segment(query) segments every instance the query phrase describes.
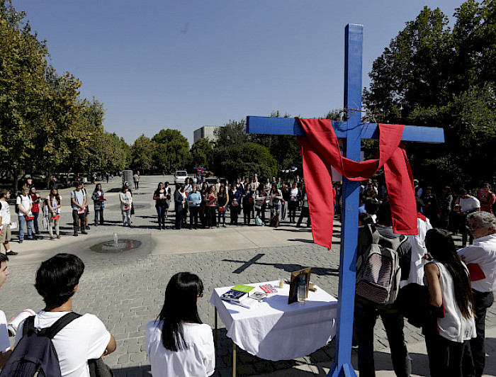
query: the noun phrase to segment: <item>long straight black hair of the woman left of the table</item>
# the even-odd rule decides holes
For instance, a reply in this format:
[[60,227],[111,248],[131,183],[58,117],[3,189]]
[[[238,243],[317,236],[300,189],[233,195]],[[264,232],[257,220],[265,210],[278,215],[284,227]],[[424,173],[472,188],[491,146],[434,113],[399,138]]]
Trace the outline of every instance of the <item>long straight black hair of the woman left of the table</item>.
[[159,314],[162,322],[162,344],[169,351],[188,348],[184,342],[183,323],[202,323],[196,300],[203,293],[203,283],[195,274],[179,272],[165,289],[164,306]]

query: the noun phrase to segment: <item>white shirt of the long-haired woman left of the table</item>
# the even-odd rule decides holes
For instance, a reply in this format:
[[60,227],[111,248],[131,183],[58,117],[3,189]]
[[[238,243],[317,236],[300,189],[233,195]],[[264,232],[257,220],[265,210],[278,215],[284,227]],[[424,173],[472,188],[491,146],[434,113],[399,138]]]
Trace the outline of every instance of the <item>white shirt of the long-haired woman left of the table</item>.
[[206,377],[215,371],[215,348],[209,325],[185,323],[184,341],[187,349],[169,351],[162,345],[162,325],[147,324],[147,354],[154,377]]

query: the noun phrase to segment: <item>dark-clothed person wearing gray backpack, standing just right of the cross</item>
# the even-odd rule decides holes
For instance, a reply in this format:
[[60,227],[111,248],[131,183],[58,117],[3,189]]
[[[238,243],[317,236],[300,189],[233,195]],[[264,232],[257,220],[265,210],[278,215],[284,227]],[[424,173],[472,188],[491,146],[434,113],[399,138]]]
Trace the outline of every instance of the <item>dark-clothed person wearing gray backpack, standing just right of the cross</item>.
[[[359,276],[361,275],[360,263],[363,256],[369,252],[373,244],[373,238],[380,237],[381,240],[391,240],[391,244],[395,244],[397,249],[388,249],[391,254],[398,254],[398,268],[395,271],[395,276],[400,274],[400,280],[406,280],[410,274],[410,255],[412,246],[410,240],[405,236],[397,235],[391,227],[391,208],[388,200],[385,200],[378,209],[377,225],[368,225],[359,229],[359,245],[357,251],[357,285],[355,296],[355,327],[356,337],[359,344],[359,372],[361,377],[375,376],[375,368],[373,361],[373,328],[376,325],[377,316],[381,315],[388,342],[391,349],[391,359],[393,359],[393,368],[396,376],[409,377],[412,371],[410,356],[408,356],[407,346],[405,344],[405,334],[403,332],[403,316],[400,310],[394,304],[378,304],[376,296],[373,295],[375,290],[372,288],[367,290],[359,284]],[[371,234],[371,229],[374,230]],[[396,240],[395,239],[398,239]],[[387,242],[383,242],[387,243]],[[381,247],[382,248],[382,247]],[[382,259],[384,260],[384,259]],[[365,263],[363,263],[365,264]],[[381,272],[383,267],[379,266]],[[393,284],[398,284],[399,281],[391,281]],[[390,288],[398,288],[398,286]],[[393,289],[394,291],[394,289]],[[392,292],[390,292],[392,293]],[[398,293],[396,291],[396,293]],[[367,297],[367,294],[369,296]],[[393,299],[393,297],[390,297]]]

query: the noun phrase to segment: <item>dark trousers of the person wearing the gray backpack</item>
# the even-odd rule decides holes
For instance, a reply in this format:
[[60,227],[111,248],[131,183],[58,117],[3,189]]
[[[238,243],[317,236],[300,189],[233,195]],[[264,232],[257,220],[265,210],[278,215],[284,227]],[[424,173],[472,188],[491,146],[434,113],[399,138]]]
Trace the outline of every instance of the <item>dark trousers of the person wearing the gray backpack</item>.
[[356,337],[359,342],[360,377],[376,376],[373,361],[373,327],[376,325],[377,315],[381,315],[388,336],[396,376],[409,377],[412,373],[412,361],[408,356],[407,345],[405,344],[403,316],[400,311],[393,305],[376,305],[356,297],[355,325]]

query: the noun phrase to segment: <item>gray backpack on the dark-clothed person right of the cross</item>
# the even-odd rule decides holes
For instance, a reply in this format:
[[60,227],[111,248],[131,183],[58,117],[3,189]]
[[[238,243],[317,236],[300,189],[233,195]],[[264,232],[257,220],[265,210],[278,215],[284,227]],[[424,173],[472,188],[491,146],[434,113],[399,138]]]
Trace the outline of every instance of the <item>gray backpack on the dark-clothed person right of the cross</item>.
[[358,296],[373,303],[390,305],[400,290],[400,256],[398,248],[407,241],[405,235],[383,237],[374,225],[368,225],[372,243],[356,260],[356,288]]

